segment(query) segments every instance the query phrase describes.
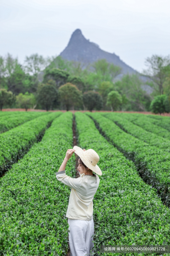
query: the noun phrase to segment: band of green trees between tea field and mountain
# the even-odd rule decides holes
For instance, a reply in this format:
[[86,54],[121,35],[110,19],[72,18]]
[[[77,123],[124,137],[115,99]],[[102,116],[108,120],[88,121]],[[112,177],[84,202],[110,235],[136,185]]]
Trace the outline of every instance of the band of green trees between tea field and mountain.
[[139,75],[98,60],[83,66],[60,56],[26,56],[21,65],[10,54],[0,57],[0,108],[170,111],[170,58],[152,55],[143,76],[153,92],[143,90]]

